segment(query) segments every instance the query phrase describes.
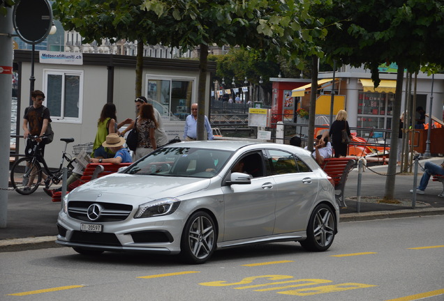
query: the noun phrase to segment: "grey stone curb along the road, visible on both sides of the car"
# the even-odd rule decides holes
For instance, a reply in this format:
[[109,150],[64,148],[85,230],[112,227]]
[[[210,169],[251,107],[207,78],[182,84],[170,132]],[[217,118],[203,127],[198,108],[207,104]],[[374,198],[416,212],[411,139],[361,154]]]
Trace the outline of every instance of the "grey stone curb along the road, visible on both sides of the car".
[[[344,213],[339,215],[339,222],[362,222],[375,219],[422,217],[427,215],[444,215],[444,208],[417,208],[394,211],[373,211],[366,213]],[[55,243],[56,239],[57,236],[40,236],[36,238],[0,240],[0,253],[63,247]]]

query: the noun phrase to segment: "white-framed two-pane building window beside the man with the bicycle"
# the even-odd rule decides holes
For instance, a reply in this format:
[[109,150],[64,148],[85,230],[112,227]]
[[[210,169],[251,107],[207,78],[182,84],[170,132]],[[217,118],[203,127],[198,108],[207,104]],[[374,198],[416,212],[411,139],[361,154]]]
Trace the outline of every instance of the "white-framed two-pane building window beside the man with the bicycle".
[[46,107],[51,118],[81,122],[83,71],[44,70]]

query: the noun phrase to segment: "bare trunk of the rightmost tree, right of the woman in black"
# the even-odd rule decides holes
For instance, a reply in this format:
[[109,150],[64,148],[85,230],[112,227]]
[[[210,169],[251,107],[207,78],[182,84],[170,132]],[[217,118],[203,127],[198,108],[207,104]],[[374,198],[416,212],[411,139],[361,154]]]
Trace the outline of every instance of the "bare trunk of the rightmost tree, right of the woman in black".
[[390,137],[390,157],[387,169],[387,180],[385,180],[385,200],[394,199],[394,182],[397,171],[397,151],[398,151],[398,132],[399,132],[399,118],[401,114],[401,100],[402,100],[402,84],[404,82],[404,65],[398,63],[397,73],[397,88],[394,95],[394,104],[392,112],[392,136]]

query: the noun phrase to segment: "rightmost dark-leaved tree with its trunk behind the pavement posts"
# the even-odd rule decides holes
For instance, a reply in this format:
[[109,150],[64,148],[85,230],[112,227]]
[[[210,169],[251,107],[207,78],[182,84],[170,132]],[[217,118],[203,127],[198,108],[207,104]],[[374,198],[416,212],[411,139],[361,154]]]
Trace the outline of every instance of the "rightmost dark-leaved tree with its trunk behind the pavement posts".
[[[410,72],[424,65],[444,65],[444,6],[441,0],[334,0],[313,7],[327,23],[341,26],[329,29],[320,43],[330,60],[354,66],[366,65],[375,87],[380,79],[380,63],[397,62],[397,91],[393,116],[401,111],[404,68]],[[392,132],[399,123],[392,118]],[[397,139],[390,152],[397,153]],[[384,199],[394,198],[396,159],[390,157]]]

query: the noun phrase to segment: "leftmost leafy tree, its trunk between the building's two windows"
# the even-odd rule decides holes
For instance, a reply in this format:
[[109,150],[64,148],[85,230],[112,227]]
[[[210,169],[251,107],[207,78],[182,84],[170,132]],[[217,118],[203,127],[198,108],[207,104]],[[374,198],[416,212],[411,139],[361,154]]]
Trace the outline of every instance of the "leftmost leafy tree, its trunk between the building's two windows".
[[65,30],[75,30],[84,43],[110,38],[117,40],[137,40],[138,53],[135,69],[135,97],[142,95],[143,45],[156,45],[163,27],[152,20],[157,16],[142,10],[142,0],[56,0],[52,6],[56,17]]

